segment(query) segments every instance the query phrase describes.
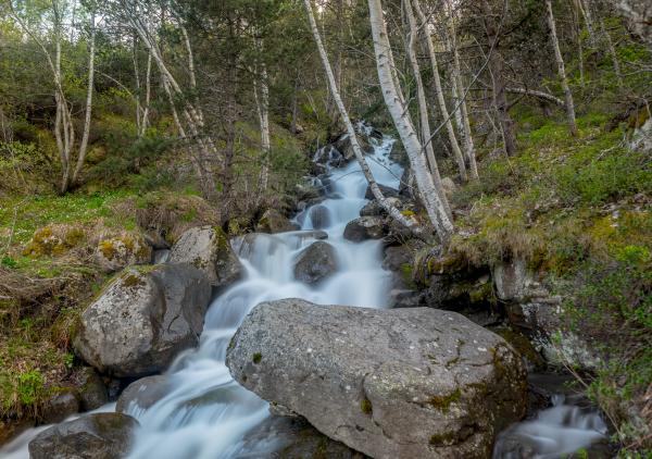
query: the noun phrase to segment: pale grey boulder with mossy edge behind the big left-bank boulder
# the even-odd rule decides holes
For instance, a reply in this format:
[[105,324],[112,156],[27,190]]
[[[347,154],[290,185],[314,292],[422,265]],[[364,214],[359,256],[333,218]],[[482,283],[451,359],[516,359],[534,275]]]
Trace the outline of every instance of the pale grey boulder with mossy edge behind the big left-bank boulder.
[[172,247],[167,262],[192,264],[218,288],[238,281],[243,272],[227,235],[217,226],[200,226],[185,232]]

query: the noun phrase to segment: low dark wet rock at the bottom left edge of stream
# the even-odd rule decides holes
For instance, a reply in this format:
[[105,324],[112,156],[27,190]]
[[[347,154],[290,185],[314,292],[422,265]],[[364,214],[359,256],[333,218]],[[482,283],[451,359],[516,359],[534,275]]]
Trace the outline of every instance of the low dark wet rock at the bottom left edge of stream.
[[30,459],[122,459],[138,426],[130,415],[87,414],[53,425],[29,442]]

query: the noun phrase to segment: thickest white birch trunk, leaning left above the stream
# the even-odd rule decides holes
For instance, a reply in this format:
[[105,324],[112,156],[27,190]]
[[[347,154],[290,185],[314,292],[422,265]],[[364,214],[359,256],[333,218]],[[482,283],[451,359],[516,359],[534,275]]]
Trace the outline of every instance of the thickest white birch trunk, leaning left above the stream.
[[[305,0],[308,1],[308,0]],[[405,152],[410,159],[412,171],[416,179],[422,200],[430,218],[430,222],[437,231],[441,243],[448,245],[453,233],[453,223],[446,213],[442,199],[435,187],[432,176],[428,173],[426,160],[423,154],[422,145],[416,136],[414,125],[410,119],[409,111],[403,103],[400,87],[394,84],[392,75],[392,52],[387,35],[387,25],[383,14],[380,0],[369,0],[369,21],[372,23],[372,35],[374,38],[374,50],[376,54],[376,67],[385,103],[391,114],[394,126],[399,132]]]

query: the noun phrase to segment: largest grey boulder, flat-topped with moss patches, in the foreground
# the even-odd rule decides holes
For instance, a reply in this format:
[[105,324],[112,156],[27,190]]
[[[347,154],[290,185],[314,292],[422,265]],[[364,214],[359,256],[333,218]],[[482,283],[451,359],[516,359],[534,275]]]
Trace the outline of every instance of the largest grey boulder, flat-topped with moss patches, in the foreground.
[[526,408],[510,345],[428,308],[263,302],[226,363],[244,387],[374,458],[486,458]]

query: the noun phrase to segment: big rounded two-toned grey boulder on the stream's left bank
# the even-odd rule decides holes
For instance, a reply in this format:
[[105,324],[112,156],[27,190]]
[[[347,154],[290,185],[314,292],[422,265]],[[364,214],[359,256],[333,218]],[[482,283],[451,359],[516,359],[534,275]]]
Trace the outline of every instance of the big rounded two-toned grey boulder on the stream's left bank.
[[209,281],[189,264],[127,269],[82,314],[75,350],[112,376],[160,372],[197,345],[210,299]]

